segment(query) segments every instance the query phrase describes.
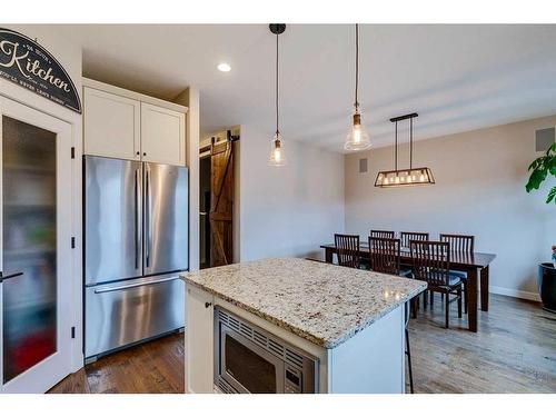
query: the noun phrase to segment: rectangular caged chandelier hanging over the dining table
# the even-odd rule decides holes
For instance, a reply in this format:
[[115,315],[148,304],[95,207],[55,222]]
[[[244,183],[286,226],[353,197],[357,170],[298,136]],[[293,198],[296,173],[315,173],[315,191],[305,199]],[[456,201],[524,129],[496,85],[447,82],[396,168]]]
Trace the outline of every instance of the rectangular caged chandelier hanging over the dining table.
[[[400,187],[400,186],[419,186],[435,183],[435,177],[430,168],[421,167],[414,168],[414,118],[417,113],[404,115],[391,118],[395,123],[395,142],[394,142],[394,170],[379,171],[375,180],[375,187]],[[409,119],[409,168],[398,169],[398,121]]]

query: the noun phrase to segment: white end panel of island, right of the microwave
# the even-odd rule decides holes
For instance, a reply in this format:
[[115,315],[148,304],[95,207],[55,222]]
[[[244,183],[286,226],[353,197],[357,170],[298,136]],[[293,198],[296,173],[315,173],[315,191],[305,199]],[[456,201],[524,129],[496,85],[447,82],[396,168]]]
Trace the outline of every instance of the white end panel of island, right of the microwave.
[[328,350],[330,394],[405,393],[404,305]]

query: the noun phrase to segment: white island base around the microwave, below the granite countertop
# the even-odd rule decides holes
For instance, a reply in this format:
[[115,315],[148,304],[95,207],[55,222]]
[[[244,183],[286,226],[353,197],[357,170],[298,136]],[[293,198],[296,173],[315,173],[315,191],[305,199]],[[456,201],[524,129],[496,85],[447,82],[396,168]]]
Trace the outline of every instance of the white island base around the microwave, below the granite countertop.
[[186,393],[219,393],[214,371],[216,306],[318,358],[318,393],[405,393],[404,304],[328,349],[190,284],[186,299]]

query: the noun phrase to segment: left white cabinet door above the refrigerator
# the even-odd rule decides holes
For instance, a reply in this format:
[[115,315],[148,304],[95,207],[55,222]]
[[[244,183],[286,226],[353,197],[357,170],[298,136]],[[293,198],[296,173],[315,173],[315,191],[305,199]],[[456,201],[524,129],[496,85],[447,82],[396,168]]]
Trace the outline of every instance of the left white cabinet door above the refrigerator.
[[139,101],[85,89],[85,153],[140,160]]

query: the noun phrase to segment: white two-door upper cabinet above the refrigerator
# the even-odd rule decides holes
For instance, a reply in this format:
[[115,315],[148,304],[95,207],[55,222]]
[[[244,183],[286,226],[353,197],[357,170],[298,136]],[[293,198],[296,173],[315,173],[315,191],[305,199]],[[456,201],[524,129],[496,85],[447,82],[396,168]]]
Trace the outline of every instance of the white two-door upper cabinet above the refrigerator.
[[186,165],[187,108],[83,79],[85,153]]

